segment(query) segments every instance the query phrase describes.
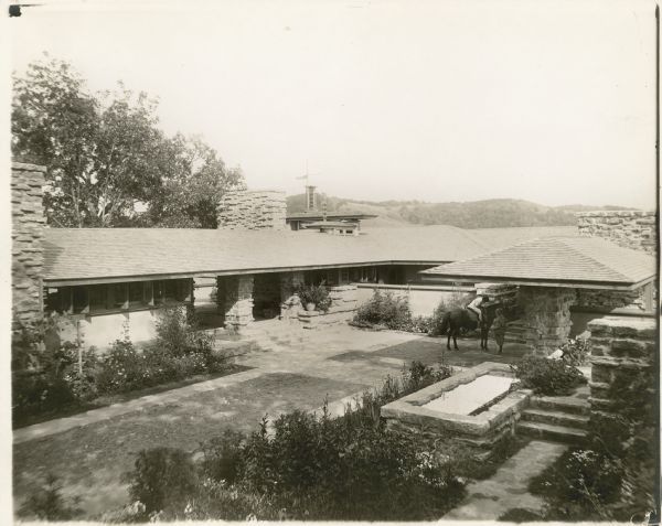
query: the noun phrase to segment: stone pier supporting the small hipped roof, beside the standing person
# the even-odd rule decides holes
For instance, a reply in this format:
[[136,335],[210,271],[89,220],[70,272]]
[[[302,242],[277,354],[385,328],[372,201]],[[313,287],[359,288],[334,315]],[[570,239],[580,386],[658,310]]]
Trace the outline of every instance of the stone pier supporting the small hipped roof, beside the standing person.
[[524,339],[535,354],[547,355],[566,342],[573,322],[570,305],[575,289],[555,287],[520,287]]

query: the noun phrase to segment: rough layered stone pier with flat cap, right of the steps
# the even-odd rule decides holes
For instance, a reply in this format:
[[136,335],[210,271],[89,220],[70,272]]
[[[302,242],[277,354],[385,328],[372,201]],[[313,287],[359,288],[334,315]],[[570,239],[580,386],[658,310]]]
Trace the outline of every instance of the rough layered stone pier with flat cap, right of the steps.
[[590,322],[588,329],[591,418],[609,418],[616,405],[611,393],[619,390],[610,389],[615,384],[632,385],[637,377],[655,374],[655,321],[610,316]]

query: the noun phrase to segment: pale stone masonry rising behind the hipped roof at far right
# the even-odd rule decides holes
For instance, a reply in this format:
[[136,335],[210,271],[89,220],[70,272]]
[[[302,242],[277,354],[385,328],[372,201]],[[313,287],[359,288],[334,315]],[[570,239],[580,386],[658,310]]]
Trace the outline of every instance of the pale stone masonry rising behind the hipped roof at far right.
[[604,237],[626,248],[655,254],[654,212],[600,211],[576,214],[579,235]]

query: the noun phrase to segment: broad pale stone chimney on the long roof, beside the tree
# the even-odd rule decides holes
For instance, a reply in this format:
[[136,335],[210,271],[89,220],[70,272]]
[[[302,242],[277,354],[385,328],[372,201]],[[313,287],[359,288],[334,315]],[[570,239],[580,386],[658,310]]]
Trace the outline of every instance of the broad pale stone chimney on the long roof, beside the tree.
[[227,192],[218,205],[218,228],[284,230],[286,208],[285,192]]

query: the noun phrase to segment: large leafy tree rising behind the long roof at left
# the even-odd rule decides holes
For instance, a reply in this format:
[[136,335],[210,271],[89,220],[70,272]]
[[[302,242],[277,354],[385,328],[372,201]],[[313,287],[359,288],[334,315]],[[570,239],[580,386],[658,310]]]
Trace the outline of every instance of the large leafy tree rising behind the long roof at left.
[[46,56],[14,79],[12,151],[44,164],[53,226],[216,226],[223,192],[243,186],[199,138],[167,137],[157,101],[120,84],[90,94],[70,64]]

